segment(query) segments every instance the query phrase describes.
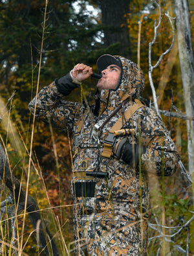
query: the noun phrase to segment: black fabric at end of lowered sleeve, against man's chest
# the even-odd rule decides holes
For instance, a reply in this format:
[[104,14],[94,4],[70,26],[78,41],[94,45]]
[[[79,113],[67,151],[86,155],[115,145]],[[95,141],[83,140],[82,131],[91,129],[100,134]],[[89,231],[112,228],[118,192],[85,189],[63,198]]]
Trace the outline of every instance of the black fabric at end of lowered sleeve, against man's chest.
[[[119,151],[118,151],[119,150]],[[138,144],[131,145],[128,141],[124,141],[120,147],[118,147],[116,155],[125,161],[128,165],[137,167],[140,157],[146,152],[144,146]]]

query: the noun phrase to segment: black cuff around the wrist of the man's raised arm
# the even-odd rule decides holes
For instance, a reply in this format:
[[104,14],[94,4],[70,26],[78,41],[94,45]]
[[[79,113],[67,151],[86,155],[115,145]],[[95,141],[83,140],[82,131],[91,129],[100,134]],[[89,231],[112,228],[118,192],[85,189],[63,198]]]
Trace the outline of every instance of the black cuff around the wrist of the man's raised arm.
[[72,82],[70,73],[68,73],[66,76],[55,79],[54,82],[56,84],[56,87],[58,87],[59,93],[63,94],[64,96],[69,95],[73,89],[79,87],[78,84]]

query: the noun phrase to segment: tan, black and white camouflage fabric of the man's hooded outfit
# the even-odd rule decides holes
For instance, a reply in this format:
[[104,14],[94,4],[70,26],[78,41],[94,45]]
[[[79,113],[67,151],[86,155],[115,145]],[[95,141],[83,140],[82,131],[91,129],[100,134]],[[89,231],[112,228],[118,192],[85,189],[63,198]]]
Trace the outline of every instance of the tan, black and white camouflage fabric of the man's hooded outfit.
[[[135,134],[116,137],[110,158],[100,157],[100,171],[105,178],[86,176],[96,170],[98,153],[109,130],[124,111],[138,98],[144,88],[144,75],[136,64],[123,57],[121,84],[116,91],[103,89],[100,111],[96,116],[80,102],[61,100],[55,82],[41,89],[36,116],[72,135],[73,157],[71,190],[74,199],[75,255],[147,255],[147,219],[149,190],[147,172],[169,176],[175,172],[178,154],[163,122],[156,113],[143,106],[126,120],[124,128],[135,129]],[[69,75],[67,81],[70,84]],[[94,124],[101,126],[113,110],[127,97],[130,100],[103,127],[102,137]],[[35,99],[30,102],[33,112]],[[95,105],[94,105],[95,106]],[[78,130],[78,120],[83,128]],[[125,120],[125,117],[124,117]],[[114,154],[117,143],[127,138],[129,143],[146,147],[138,167],[127,165]]]

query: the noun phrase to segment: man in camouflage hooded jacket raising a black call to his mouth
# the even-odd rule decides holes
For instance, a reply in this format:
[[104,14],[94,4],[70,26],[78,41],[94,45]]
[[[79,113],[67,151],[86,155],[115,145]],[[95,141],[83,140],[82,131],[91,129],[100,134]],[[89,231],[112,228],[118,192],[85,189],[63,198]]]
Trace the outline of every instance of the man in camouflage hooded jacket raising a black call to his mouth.
[[77,64],[41,89],[36,116],[72,135],[75,255],[147,255],[147,172],[173,174],[178,153],[160,117],[138,100],[142,70],[109,54],[97,67],[94,104],[61,100],[92,75]]

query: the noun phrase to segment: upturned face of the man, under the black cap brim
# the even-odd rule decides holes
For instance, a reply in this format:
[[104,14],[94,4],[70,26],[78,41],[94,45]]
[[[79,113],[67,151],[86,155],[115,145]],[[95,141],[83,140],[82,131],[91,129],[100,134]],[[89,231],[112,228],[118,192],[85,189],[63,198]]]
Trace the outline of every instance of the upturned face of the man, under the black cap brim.
[[102,71],[102,78],[98,80],[98,91],[102,89],[114,89],[120,76],[121,68],[118,65],[109,65]]

